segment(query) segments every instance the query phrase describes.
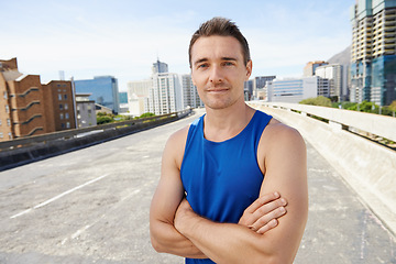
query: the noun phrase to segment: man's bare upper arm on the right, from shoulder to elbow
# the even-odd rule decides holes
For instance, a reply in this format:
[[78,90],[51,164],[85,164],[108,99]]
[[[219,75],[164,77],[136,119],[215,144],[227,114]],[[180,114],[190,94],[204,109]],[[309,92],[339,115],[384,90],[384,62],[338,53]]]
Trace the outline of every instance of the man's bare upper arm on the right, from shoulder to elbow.
[[308,217],[306,146],[293,129],[278,131],[274,147],[265,157],[265,177],[261,194],[278,191],[287,200],[287,213],[278,226],[265,233],[275,251],[283,251],[287,260],[294,257]]

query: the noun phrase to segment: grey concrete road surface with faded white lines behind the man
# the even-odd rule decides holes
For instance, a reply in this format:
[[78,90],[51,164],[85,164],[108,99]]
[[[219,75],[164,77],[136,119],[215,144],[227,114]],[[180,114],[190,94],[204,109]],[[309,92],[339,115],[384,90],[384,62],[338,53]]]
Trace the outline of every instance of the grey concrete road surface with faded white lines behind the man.
[[[167,138],[202,114],[0,173],[0,263],[184,263],[156,253],[148,209]],[[295,263],[396,263],[395,235],[309,144]]]

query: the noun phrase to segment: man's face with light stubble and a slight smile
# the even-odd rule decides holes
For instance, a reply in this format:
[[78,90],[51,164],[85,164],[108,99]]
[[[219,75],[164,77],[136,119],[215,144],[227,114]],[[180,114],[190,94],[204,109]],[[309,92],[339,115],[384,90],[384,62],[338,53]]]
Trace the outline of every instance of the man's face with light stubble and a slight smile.
[[242,47],[232,36],[201,36],[191,48],[191,76],[206,107],[224,109],[243,99],[252,62],[243,63]]

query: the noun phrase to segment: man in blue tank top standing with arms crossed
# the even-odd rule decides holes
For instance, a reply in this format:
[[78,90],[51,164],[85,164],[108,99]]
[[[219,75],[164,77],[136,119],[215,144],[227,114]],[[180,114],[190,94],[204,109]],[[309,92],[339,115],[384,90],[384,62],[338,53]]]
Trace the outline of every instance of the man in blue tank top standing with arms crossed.
[[234,23],[201,24],[189,62],[206,114],[165,146],[150,213],[154,249],[186,263],[293,263],[308,216],[300,134],[245,105],[252,61]]

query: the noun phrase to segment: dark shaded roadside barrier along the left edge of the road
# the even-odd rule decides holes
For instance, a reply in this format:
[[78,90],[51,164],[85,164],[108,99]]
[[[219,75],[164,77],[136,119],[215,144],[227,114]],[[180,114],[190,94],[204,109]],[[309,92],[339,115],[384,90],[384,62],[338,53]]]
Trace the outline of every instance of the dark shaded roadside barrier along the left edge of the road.
[[[173,114],[153,117],[131,122],[111,123],[80,130],[70,130],[58,133],[46,134],[35,138],[25,138],[12,142],[2,142],[11,148],[0,151],[0,172],[30,162],[59,155],[66,152],[99,144],[120,136],[132,134],[142,130],[152,129],[166,124],[188,116],[190,109]],[[130,125],[127,125],[130,123]],[[80,131],[80,134],[78,133]],[[84,133],[88,133],[82,135]],[[33,144],[28,144],[30,141]],[[22,147],[14,147],[18,144],[26,144]],[[14,147],[14,148],[13,148]]]

